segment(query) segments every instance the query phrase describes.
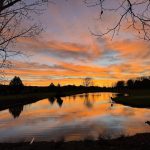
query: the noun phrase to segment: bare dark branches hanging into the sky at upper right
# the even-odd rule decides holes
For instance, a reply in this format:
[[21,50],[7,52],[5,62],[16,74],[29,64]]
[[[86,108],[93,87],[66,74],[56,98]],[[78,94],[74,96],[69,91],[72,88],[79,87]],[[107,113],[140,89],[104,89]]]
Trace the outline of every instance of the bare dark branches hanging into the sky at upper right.
[[113,38],[120,31],[122,25],[127,24],[127,29],[132,28],[140,38],[150,40],[150,0],[84,0],[84,3],[88,7],[99,7],[100,19],[106,12],[117,13],[119,16],[112,28],[107,28],[105,32],[99,34],[92,32],[94,35],[111,34]]

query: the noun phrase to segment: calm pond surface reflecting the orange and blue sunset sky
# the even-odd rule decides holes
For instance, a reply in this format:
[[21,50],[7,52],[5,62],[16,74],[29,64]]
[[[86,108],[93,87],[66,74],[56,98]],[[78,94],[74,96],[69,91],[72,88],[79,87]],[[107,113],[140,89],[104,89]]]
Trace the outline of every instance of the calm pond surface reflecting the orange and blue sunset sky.
[[112,104],[112,93],[43,99],[0,111],[0,142],[83,140],[150,132],[150,110]]

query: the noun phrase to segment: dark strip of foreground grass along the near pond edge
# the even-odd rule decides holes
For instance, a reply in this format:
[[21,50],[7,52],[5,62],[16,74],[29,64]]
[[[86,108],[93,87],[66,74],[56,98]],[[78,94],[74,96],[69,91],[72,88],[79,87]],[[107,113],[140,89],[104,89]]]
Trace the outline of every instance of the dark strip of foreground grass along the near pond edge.
[[0,143],[0,150],[149,150],[150,133],[113,140]]

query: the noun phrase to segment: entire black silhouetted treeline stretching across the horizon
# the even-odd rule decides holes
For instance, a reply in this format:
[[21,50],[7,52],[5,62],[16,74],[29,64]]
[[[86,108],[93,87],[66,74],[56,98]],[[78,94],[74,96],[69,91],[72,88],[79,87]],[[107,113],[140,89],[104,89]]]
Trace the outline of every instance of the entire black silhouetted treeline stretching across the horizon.
[[87,93],[87,92],[115,92],[116,90],[124,89],[150,89],[150,77],[141,77],[137,79],[129,79],[127,81],[118,81],[114,87],[99,87],[99,86],[75,86],[66,85],[57,86],[51,83],[46,87],[39,86],[24,86],[22,80],[19,77],[14,77],[9,85],[0,85],[0,95],[12,95],[12,94],[31,94],[31,93],[48,93],[54,92],[58,95],[63,93]]

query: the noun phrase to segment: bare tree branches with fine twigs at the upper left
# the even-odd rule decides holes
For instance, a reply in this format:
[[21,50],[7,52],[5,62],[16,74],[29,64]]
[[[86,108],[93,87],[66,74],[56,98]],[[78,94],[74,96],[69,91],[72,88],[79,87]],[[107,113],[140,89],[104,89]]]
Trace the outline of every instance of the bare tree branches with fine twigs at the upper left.
[[8,58],[20,54],[14,50],[19,38],[39,35],[42,27],[36,15],[44,10],[46,0],[0,0],[0,68],[9,66]]

